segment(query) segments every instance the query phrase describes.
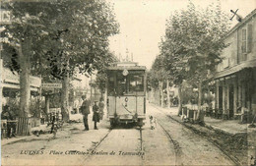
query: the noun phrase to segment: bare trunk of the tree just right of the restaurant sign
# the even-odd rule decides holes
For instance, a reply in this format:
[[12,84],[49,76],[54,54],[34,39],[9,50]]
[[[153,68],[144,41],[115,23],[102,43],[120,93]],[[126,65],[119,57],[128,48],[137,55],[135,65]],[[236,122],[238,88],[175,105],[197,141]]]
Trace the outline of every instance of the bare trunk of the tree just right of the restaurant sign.
[[67,74],[62,81],[61,115],[64,122],[69,120],[69,74]]

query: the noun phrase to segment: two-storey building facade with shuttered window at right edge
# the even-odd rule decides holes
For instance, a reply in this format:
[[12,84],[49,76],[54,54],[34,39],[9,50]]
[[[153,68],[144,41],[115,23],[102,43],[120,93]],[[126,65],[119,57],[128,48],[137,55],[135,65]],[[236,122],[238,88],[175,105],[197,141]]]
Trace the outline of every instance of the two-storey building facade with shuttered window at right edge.
[[256,112],[256,10],[224,38],[228,46],[215,74],[216,108],[230,118]]

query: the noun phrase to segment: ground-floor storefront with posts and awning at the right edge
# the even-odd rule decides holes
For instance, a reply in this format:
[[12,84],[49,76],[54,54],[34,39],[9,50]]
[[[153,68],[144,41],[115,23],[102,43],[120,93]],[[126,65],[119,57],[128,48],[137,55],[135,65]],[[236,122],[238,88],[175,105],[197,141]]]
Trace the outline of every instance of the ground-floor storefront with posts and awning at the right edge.
[[238,65],[215,77],[216,108],[235,118],[256,112],[256,60]]

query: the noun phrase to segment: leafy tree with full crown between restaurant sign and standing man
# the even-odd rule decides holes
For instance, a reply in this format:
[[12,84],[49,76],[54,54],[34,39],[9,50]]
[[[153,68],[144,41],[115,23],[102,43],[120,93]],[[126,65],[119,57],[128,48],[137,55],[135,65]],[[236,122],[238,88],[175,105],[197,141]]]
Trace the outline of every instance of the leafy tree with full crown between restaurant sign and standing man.
[[60,42],[57,56],[52,56],[56,55],[56,47],[48,53],[54,60],[50,61],[54,62],[51,64],[53,74],[63,80],[62,115],[67,117],[69,77],[76,69],[79,73],[92,75],[93,71],[104,68],[109,59],[108,36],[118,32],[118,25],[112,9],[103,1],[60,2],[57,3],[62,5],[57,20],[59,38],[56,42]]

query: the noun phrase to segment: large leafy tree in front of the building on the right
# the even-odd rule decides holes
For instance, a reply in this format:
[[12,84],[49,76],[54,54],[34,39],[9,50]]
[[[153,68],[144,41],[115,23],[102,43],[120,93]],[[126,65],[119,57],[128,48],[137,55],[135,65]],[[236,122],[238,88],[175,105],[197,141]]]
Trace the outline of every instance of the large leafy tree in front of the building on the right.
[[160,43],[166,70],[173,75],[176,84],[186,80],[197,85],[198,115],[203,83],[207,84],[207,76],[222,61],[220,55],[226,47],[223,37],[229,28],[228,23],[220,5],[210,5],[202,10],[190,2],[187,10],[175,12],[166,24],[165,36]]

